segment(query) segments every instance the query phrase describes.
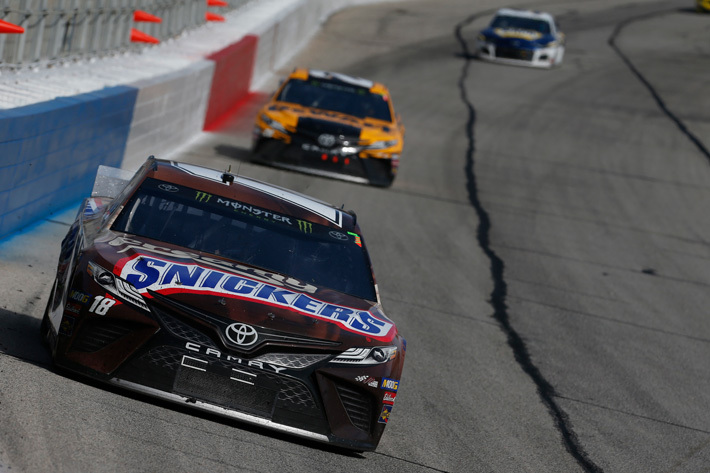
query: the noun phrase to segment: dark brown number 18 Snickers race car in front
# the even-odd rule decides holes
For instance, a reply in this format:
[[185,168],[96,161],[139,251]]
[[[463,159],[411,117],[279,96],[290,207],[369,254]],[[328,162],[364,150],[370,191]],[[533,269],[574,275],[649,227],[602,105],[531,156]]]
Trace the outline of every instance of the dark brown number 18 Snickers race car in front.
[[357,451],[377,447],[406,350],[354,212],[152,157],[100,167],[41,332],[60,368]]

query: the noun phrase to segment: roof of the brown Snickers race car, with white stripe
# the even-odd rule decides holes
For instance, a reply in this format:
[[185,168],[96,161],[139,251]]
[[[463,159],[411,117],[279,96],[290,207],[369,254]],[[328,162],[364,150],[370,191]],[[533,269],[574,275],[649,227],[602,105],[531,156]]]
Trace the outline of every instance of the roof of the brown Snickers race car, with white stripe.
[[149,158],[146,177],[184,185],[297,219],[359,233],[355,213],[256,179],[195,164]]

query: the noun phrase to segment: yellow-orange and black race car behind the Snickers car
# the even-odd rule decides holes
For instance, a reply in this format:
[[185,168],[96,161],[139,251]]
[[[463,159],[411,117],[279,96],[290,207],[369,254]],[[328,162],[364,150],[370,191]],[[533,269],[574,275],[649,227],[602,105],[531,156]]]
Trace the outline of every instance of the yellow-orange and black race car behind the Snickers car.
[[295,69],[259,111],[253,160],[377,186],[392,184],[404,126],[380,83]]

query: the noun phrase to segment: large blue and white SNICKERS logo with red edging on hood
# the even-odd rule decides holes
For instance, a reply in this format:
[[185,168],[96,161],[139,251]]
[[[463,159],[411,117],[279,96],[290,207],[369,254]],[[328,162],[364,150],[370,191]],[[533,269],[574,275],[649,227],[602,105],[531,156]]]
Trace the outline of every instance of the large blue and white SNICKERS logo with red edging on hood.
[[389,341],[394,336],[394,325],[370,311],[331,304],[304,292],[198,264],[135,255],[121,260],[115,271],[120,271],[119,276],[132,284],[143,297],[150,297],[148,290],[224,296],[290,309],[377,340]]

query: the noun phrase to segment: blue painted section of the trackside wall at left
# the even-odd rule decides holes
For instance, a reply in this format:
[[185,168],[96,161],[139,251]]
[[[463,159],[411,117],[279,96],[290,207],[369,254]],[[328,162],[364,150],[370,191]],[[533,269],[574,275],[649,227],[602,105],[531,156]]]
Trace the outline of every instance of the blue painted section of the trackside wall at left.
[[120,167],[138,89],[109,87],[0,110],[0,238],[91,192]]

